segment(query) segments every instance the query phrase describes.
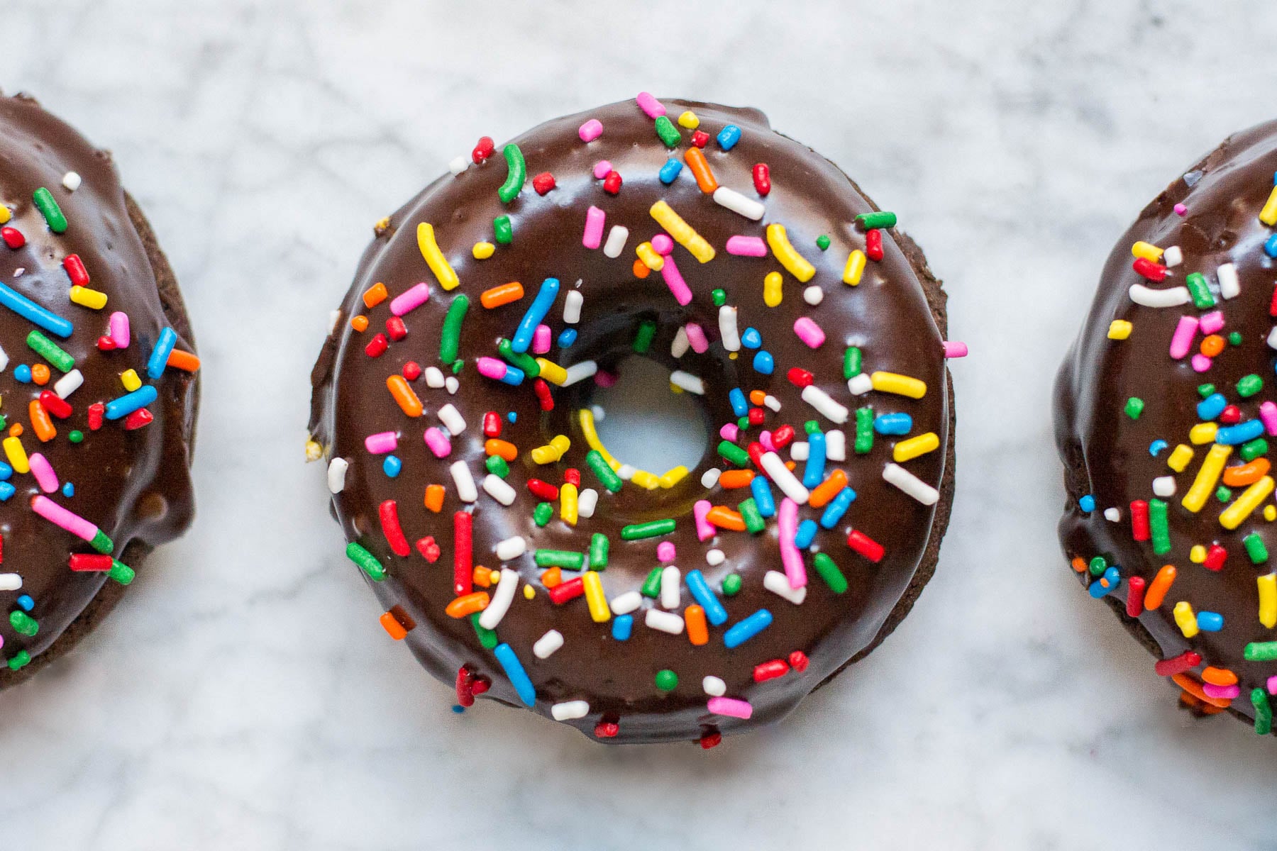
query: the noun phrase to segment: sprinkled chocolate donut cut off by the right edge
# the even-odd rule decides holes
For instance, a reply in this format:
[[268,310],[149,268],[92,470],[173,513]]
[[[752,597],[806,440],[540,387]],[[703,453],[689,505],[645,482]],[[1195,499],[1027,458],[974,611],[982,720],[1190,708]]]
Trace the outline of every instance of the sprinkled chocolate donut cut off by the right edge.
[[1176,179],[1114,248],[1056,381],[1079,582],[1195,714],[1272,731],[1277,121]]

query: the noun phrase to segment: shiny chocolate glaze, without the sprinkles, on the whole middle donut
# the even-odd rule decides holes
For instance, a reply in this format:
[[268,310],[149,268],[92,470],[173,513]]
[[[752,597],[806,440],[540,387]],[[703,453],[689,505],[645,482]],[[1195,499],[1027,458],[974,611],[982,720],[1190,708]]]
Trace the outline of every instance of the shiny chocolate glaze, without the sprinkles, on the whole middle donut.
[[[872,404],[877,412],[904,411],[913,416],[911,434],[935,431],[941,449],[905,464],[923,481],[940,486],[950,450],[941,329],[928,309],[911,256],[902,251],[894,233],[889,232],[884,260],[868,264],[858,287],[842,283],[842,269],[849,250],[865,244],[863,233],[856,231],[850,222],[858,213],[876,209],[873,204],[833,163],[771,131],[761,112],[683,101],[663,103],[670,119],[688,108],[700,117],[700,129],[711,137],[705,156],[719,185],[756,198],[751,168],[759,162],[770,166],[774,188],[764,199],[766,214],[762,222],[751,222],[714,203],[699,190],[686,170],[672,186],[663,186],[656,176],[660,166],[669,156],[682,158],[690,134],[683,130],[678,149],[667,153],[655,135],[653,121],[632,101],[549,121],[515,142],[526,157],[529,176],[549,171],[557,188],[539,196],[527,185],[515,202],[502,204],[497,189],[506,180],[507,168],[501,158],[501,145],[484,165],[470,166],[457,177],[448,175],[428,186],[389,218],[389,227],[379,232],[365,251],[354,285],[342,302],[338,323],[312,375],[315,388],[312,435],[323,447],[326,457],[350,462],[345,489],[333,498],[333,512],[347,540],[363,544],[387,566],[386,581],[370,583],[383,607],[402,606],[415,620],[416,626],[407,633],[406,640],[438,679],[452,683],[458,667],[470,666],[492,680],[489,697],[510,704],[518,703],[515,692],[492,653],[479,644],[471,624],[453,620],[443,612],[453,596],[452,514],[464,508],[447,467],[458,458],[467,459],[476,482],[480,481],[484,473],[484,438],[480,430],[484,412],[518,412],[517,422],[506,422],[502,434],[503,439],[520,448],[508,477],[518,495],[513,505],[503,508],[480,491],[474,505],[475,563],[497,568],[499,565],[493,555],[497,541],[515,535],[527,538],[529,554],[507,566],[518,570],[522,581],[531,583],[538,593],[527,601],[520,588],[498,626],[498,637],[515,648],[536,685],[539,713],[549,714],[554,703],[585,699],[590,703],[589,714],[570,723],[590,734],[600,720],[619,721],[619,735],[608,741],[688,740],[706,731],[734,732],[783,717],[858,651],[871,646],[927,550],[935,507],[921,505],[882,481],[881,471],[884,463],[890,461],[893,440],[881,435],[867,455],[852,453],[849,435],[848,461],[830,464],[847,471],[858,498],[838,527],[820,531],[816,546],[827,551],[847,575],[850,586],[847,593],[835,596],[815,572],[810,574],[807,598],[801,606],[764,589],[764,572],[780,569],[775,518],[759,536],[723,532],[704,544],[697,541],[692,522],[696,500],[709,499],[734,508],[748,496],[747,491],[723,491],[718,486],[706,491],[700,484],[701,473],[707,468],[729,467],[714,450],[719,426],[736,420],[728,403],[728,389],[765,389],[782,402],[780,413],[769,413],[765,429],[788,422],[801,435],[807,420],[819,420],[826,431],[836,427],[802,402],[799,389],[785,380],[785,371],[799,366],[811,370],[821,389],[853,410]],[[603,122],[603,137],[585,144],[577,137],[577,128],[591,117]],[[727,124],[736,124],[743,130],[741,142],[730,152],[720,151],[713,142]],[[600,159],[609,159],[623,176],[624,185],[618,196],[605,194],[600,181],[591,175]],[[678,306],[659,273],[640,281],[631,270],[635,246],[660,232],[647,211],[661,198],[718,251],[714,260],[699,264],[684,249],[674,248],[673,256],[695,293],[687,307]],[[630,228],[626,250],[619,258],[609,259],[601,250],[582,248],[585,211],[590,204],[607,212],[608,230],[613,225]],[[488,260],[475,260],[471,245],[480,240],[490,241],[492,221],[502,214],[508,214],[513,223],[513,244],[498,246],[495,255]],[[443,291],[428,270],[416,245],[419,222],[434,225],[439,245],[461,279],[456,291]],[[805,304],[802,291],[806,285],[784,272],[774,256],[732,256],[724,250],[730,235],[762,236],[769,222],[785,225],[792,244],[816,265],[812,283],[820,285],[825,296],[819,306]],[[833,240],[824,253],[815,245],[821,233]],[[912,244],[908,249],[916,253]],[[785,278],[784,301],[775,309],[762,302],[762,279],[771,270],[783,272]],[[580,290],[585,296],[581,322],[576,325],[580,338],[567,350],[552,350],[547,355],[550,360],[567,366],[594,359],[600,369],[614,369],[631,353],[638,322],[654,319],[658,333],[649,356],[670,370],[687,370],[705,379],[704,408],[711,434],[710,445],[696,468],[674,487],[645,491],[627,482],[618,494],[610,495],[594,478],[585,464],[587,447],[575,416],[581,406],[589,403],[595,387],[593,381],[555,388],[554,410],[541,413],[530,381],[511,388],[475,371],[474,359],[495,355],[495,341],[512,334],[547,277],[559,278],[563,292],[581,281]],[[365,310],[361,293],[375,282],[384,282],[393,297],[423,279],[430,283],[430,300],[405,316],[407,337],[392,343],[386,355],[368,357],[363,348],[373,333],[383,329],[389,313],[387,302]],[[522,282],[527,295],[515,305],[484,310],[479,305],[479,293],[508,281]],[[710,296],[715,287],[724,288],[727,302],[738,306],[742,330],[753,327],[762,333],[762,347],[775,356],[773,375],[752,369],[753,352],[750,350],[742,350],[738,360],[728,357],[719,342],[718,309]],[[412,421],[391,401],[386,378],[409,360],[423,366],[439,362],[439,327],[448,304],[458,292],[467,293],[471,300],[462,330],[461,356],[466,359],[466,366],[460,375],[460,390],[448,396],[444,389],[428,389],[424,380],[415,381],[414,388],[427,413]],[[547,318],[555,337],[564,328],[563,292]],[[370,325],[368,332],[356,333],[349,319],[361,313],[369,315]],[[807,348],[793,332],[794,320],[802,315],[815,319],[827,334],[826,343],[817,351]],[[702,355],[688,351],[676,360],[670,356],[670,343],[678,327],[687,322],[697,322],[705,328],[710,347]],[[853,398],[842,378],[842,359],[848,344],[863,348],[866,373],[886,370],[913,375],[927,383],[926,396],[913,401],[872,392],[859,399]],[[435,412],[447,402],[461,411],[469,427],[464,435],[452,439],[452,454],[439,461],[427,450],[421,435],[427,426],[439,425]],[[400,433],[396,454],[404,461],[404,472],[397,478],[387,477],[382,472],[382,457],[369,455],[363,445],[366,435],[387,430]],[[748,433],[751,436],[742,436],[739,445],[756,439],[757,431],[753,429]],[[550,466],[533,463],[530,450],[561,433],[572,440],[564,459]],[[557,514],[545,528],[538,528],[531,513],[539,500],[524,487],[524,482],[529,477],[540,477],[558,484],[570,466],[581,470],[582,487],[599,491],[598,512],[591,519],[582,518],[575,529],[561,522]],[[439,514],[423,507],[428,484],[447,487]],[[775,494],[779,503],[782,495],[779,491]],[[400,519],[410,541],[425,535],[435,536],[443,547],[443,558],[438,563],[427,564],[415,550],[402,559],[389,551],[377,514],[378,505],[387,499],[398,501]],[[665,517],[676,518],[678,527],[664,538],[623,542],[619,537],[621,527],[627,523]],[[801,517],[819,518],[819,513],[805,507]],[[847,535],[853,526],[886,547],[888,555],[880,564],[871,564],[848,549]],[[601,573],[609,598],[637,588],[649,570],[659,564],[658,542],[669,540],[678,547],[674,564],[682,568],[684,575],[700,568],[715,589],[730,572],[743,577],[743,588],[738,595],[720,595],[729,614],[728,624],[761,607],[770,610],[775,621],[738,648],[725,649],[723,626],[710,628],[709,644],[693,647],[686,634],[669,635],[646,628],[642,611],[638,611],[632,638],[617,642],[610,635],[610,623],[595,624],[590,620],[584,600],[552,605],[538,581],[540,570],[531,559],[535,549],[585,550],[593,532],[604,532],[612,542],[610,560]],[[942,529],[936,535],[940,532]],[[724,564],[716,568],[706,564],[705,552],[710,547],[723,550],[727,555]],[[807,564],[811,570],[810,556]],[[571,575],[575,574],[566,574]],[[684,587],[681,607],[690,602],[692,600]],[[650,605],[653,601],[645,601],[645,606]],[[548,660],[538,660],[531,647],[552,628],[564,635],[566,643]],[[810,657],[811,663],[805,672],[790,671],[776,680],[753,683],[755,665],[785,658],[796,649]],[[670,693],[660,693],[653,685],[654,675],[661,669],[678,674],[678,686]],[[706,695],[701,689],[706,675],[723,677],[728,697],[750,700],[753,704],[752,718],[739,721],[707,713]]]

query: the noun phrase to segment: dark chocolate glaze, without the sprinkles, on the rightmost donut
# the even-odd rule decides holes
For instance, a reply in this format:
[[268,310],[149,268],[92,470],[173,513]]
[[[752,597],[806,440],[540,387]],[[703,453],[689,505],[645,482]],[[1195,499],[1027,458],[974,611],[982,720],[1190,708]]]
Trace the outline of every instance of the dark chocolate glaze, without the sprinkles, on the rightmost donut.
[[[1257,616],[1255,586],[1258,575],[1273,569],[1272,563],[1251,564],[1241,541],[1254,532],[1269,552],[1277,552],[1277,532],[1263,519],[1262,509],[1235,531],[1223,528],[1218,517],[1225,505],[1213,495],[1197,514],[1181,505],[1209,444],[1193,447],[1194,458],[1183,473],[1175,475],[1166,459],[1176,444],[1189,443],[1189,429],[1200,421],[1197,415],[1197,403],[1202,401],[1199,385],[1214,384],[1230,404],[1240,407],[1244,420],[1257,417],[1259,404],[1274,397],[1273,365],[1277,361],[1264,341],[1273,325],[1269,305],[1277,273],[1263,250],[1273,228],[1259,221],[1259,211],[1272,191],[1274,171],[1277,121],[1230,137],[1144,208],[1105,265],[1087,324],[1065,359],[1055,394],[1056,443],[1070,496],[1059,527],[1065,554],[1088,560],[1103,555],[1110,564],[1121,565],[1122,582],[1106,597],[1115,611],[1162,658],[1191,649],[1203,660],[1197,672],[1205,666],[1234,671],[1241,694],[1230,709],[1246,717],[1254,717],[1249,700],[1251,689],[1264,686],[1267,677],[1277,674],[1277,663],[1243,660],[1248,642],[1268,642],[1274,635]],[[1176,204],[1186,205],[1185,216],[1175,212]],[[1184,262],[1171,269],[1165,282],[1149,283],[1131,268],[1130,246],[1138,240],[1162,248],[1177,245],[1184,251]],[[1216,269],[1225,263],[1235,264],[1241,287],[1241,293],[1228,300],[1221,299],[1216,277]],[[1128,295],[1133,283],[1157,290],[1183,286],[1185,276],[1193,272],[1207,277],[1218,301],[1214,307],[1198,310],[1191,302],[1180,307],[1147,307],[1134,304]],[[1209,310],[1223,311],[1226,325],[1218,333],[1240,332],[1243,342],[1227,346],[1205,373],[1195,373],[1189,357],[1176,361],[1170,356],[1170,341],[1181,315],[1199,316]],[[1114,319],[1133,323],[1129,339],[1107,338]],[[1200,341],[1198,333],[1194,353]],[[1251,373],[1263,378],[1264,389],[1243,399],[1235,385],[1237,379]],[[1122,413],[1130,397],[1145,402],[1143,413],[1134,421]],[[1273,438],[1266,438],[1272,444]],[[1157,439],[1168,441],[1170,449],[1153,457],[1149,444]],[[1241,458],[1234,448],[1228,466],[1237,463]],[[1133,540],[1130,503],[1152,499],[1152,480],[1167,475],[1175,476],[1177,486],[1175,496],[1166,500],[1172,550],[1154,555],[1148,541]],[[1234,489],[1234,498],[1240,490]],[[1078,507],[1078,499],[1085,494],[1096,499],[1096,509],[1089,514]],[[1272,499],[1266,504],[1272,504]],[[1121,510],[1120,522],[1103,518],[1103,510],[1110,507]],[[1191,563],[1189,549],[1195,544],[1223,546],[1228,551],[1223,569],[1216,573]],[[1151,582],[1163,564],[1174,564],[1177,570],[1171,592],[1160,609],[1144,611],[1137,623],[1124,611],[1129,578],[1138,575]],[[1080,575],[1084,584],[1093,579],[1089,573]],[[1222,614],[1223,629],[1184,638],[1171,614],[1172,606],[1181,600],[1190,602],[1195,612]]]

